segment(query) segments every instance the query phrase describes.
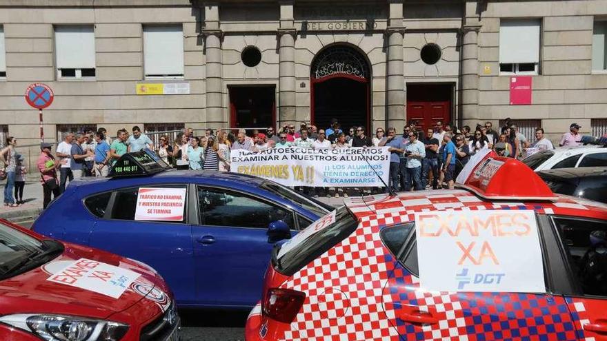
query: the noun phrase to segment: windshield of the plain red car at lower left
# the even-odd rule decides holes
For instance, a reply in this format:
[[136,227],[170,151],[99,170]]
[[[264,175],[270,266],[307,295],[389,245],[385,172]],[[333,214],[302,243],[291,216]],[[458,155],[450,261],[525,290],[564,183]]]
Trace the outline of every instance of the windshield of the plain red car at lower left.
[[63,245],[54,240],[37,240],[18,229],[0,223],[0,280],[23,273],[48,256],[63,251]]

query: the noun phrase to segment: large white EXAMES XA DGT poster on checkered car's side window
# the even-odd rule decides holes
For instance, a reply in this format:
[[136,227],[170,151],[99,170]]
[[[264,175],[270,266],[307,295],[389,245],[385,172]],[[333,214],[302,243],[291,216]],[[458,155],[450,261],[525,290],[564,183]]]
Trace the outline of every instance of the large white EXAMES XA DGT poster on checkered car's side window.
[[415,231],[428,291],[546,291],[533,211],[421,212]]

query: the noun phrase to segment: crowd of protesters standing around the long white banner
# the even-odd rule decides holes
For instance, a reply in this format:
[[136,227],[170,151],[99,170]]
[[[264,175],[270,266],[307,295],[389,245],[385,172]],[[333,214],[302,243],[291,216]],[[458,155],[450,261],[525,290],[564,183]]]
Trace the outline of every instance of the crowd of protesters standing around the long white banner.
[[[581,144],[580,126],[570,125],[570,132],[563,135],[560,145]],[[299,130],[294,124],[285,124],[275,131],[268,127],[266,132],[238,130],[237,134],[221,129],[204,131],[203,136],[195,136],[194,131],[183,129],[171,141],[170,136],[157,138],[157,144],[141,132],[136,125],[131,132],[117,131],[115,138],[100,127],[97,132],[65,135],[57,145],[56,153],[51,152],[50,143],[41,143],[41,154],[37,160],[40,180],[43,186],[43,207],[46,208],[51,195],[59,196],[66,189],[66,183],[83,176],[107,176],[110,167],[127,152],[137,152],[148,148],[177,169],[230,170],[230,151],[245,149],[260,152],[273,147],[304,148],[348,148],[348,147],[389,147],[390,182],[388,189],[395,192],[421,189],[452,188],[457,174],[466,165],[470,156],[481,149],[493,149],[497,154],[521,158],[541,149],[553,149],[553,144],[544,136],[544,130],[535,130],[535,141],[528,141],[514,124],[507,123],[496,132],[491,122],[477,125],[472,130],[468,125],[460,129],[437,121],[426,132],[419,130],[416,121],[410,121],[399,134],[394,127],[384,130],[378,127],[373,136],[366,127],[353,126],[341,130],[337,119],[332,119],[330,127],[318,129],[310,123],[301,123]],[[132,134],[130,134],[132,133]],[[4,205],[17,207],[23,204],[23,186],[27,167],[23,155],[15,149],[17,139],[7,138],[7,146],[0,150],[0,161],[5,165],[2,173],[7,182],[4,190]],[[59,173],[59,175],[57,175]],[[386,190],[388,190],[386,189]],[[323,189],[302,187],[307,194],[318,196]],[[374,192],[379,188],[373,189]],[[325,189],[327,195],[330,193]],[[335,196],[347,196],[344,189],[335,189]]]

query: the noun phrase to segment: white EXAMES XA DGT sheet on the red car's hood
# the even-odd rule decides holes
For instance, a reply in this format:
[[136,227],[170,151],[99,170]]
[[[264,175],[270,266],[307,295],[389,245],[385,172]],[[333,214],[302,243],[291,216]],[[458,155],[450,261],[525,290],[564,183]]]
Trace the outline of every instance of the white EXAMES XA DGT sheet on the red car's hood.
[[80,258],[46,280],[119,298],[137,278],[135,271]]

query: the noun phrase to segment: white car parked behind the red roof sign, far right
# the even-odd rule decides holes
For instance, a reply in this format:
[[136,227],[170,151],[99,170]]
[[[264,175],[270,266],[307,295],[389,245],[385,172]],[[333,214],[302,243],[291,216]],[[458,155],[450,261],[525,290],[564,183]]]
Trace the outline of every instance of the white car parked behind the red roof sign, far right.
[[607,147],[581,145],[542,150],[524,158],[523,163],[535,172],[556,168],[607,166]]

